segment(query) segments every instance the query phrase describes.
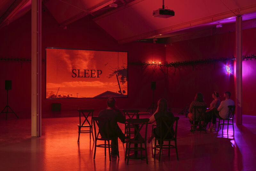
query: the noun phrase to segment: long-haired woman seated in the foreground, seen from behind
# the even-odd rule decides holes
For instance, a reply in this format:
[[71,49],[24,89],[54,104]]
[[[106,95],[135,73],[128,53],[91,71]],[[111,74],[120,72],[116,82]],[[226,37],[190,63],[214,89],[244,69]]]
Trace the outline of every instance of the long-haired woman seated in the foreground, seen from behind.
[[[172,112],[168,111],[168,106],[167,106],[167,101],[165,99],[160,99],[157,102],[157,109],[155,111],[155,113],[149,118],[149,124],[152,124],[153,122],[156,121],[156,128],[154,128],[153,130],[153,134],[151,135],[151,137],[148,139],[148,143],[151,142],[151,140],[156,137],[156,138],[160,138],[160,134],[161,134],[161,128],[160,128],[160,119],[161,117],[174,117]],[[167,128],[162,130],[162,133],[166,133],[167,132]],[[168,135],[167,138],[172,138],[174,135],[174,130],[172,128],[171,133],[172,135]]]

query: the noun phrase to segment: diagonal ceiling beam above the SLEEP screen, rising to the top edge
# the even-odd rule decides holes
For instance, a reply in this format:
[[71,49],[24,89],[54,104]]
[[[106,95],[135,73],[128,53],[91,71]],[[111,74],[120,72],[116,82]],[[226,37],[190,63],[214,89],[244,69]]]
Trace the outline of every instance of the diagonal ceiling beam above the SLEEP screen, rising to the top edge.
[[106,1],[103,1],[103,2],[100,3],[100,4],[98,4],[98,5],[96,5],[96,6],[92,7],[92,8],[87,9],[86,12],[83,11],[83,12],[77,14],[76,16],[74,16],[74,17],[72,17],[72,18],[69,18],[69,19],[63,21],[62,23],[60,23],[60,27],[64,27],[64,26],[66,26],[66,25],[68,25],[68,24],[70,24],[70,23],[72,23],[72,22],[74,22],[74,21],[76,21],[76,20],[78,20],[78,19],[80,19],[80,18],[85,17],[85,16],[88,15],[88,14],[91,14],[92,12],[95,12],[95,11],[97,11],[97,10],[100,10],[101,8],[107,6],[107,5],[109,5],[109,4],[111,4],[111,3],[115,2],[115,1],[116,1],[116,0],[114,0],[114,1],[113,1],[113,0],[106,0]]

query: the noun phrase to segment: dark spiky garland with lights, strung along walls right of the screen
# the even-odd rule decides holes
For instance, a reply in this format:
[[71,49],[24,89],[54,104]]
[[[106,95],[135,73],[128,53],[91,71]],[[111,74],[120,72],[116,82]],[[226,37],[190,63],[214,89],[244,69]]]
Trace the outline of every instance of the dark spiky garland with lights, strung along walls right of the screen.
[[[200,64],[216,64],[218,62],[226,62],[236,60],[235,57],[222,57],[218,59],[210,58],[210,59],[200,59],[200,60],[192,60],[192,61],[177,61],[177,62],[141,62],[141,63],[130,63],[132,65],[141,65],[142,67],[147,66],[159,66],[159,67],[168,67],[168,68],[179,68],[179,67],[188,67],[188,66],[196,66]],[[242,61],[255,61],[256,54],[243,55]]]

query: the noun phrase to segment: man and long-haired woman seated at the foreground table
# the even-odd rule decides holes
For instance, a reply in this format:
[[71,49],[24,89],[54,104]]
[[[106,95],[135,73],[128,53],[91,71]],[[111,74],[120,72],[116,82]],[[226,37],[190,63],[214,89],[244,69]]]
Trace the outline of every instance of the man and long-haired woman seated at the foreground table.
[[[109,124],[109,132],[111,132],[110,137],[118,137],[122,143],[125,143],[125,136],[120,127],[118,126],[117,122],[119,123],[125,123],[125,116],[121,110],[118,109],[118,107],[115,105],[116,100],[113,97],[109,97],[107,100],[107,109],[101,110],[99,113],[99,117],[108,117],[111,118],[110,124]],[[160,117],[174,117],[172,112],[168,111],[167,101],[165,99],[160,99],[157,103],[157,109],[156,112],[149,118],[149,124],[156,121],[156,128],[154,128],[153,135],[148,139],[148,143],[154,138],[154,137],[160,137],[161,128],[159,127],[160,123],[158,118]],[[104,129],[99,129],[100,135],[104,137],[105,132]],[[171,134],[174,135],[174,130],[172,128]],[[172,136],[170,135],[170,136]],[[111,145],[117,145],[118,141],[116,139],[111,140]],[[111,147],[111,155],[117,154],[117,148]]]

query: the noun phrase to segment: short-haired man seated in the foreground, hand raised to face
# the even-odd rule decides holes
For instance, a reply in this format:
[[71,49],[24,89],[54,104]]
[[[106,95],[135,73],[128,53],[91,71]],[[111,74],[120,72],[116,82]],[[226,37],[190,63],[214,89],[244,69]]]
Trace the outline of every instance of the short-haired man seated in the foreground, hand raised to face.
[[[104,128],[104,123],[99,123],[99,132],[102,138],[107,138],[107,134],[105,132],[106,129],[109,130],[109,138],[116,137],[111,140],[111,145],[118,145],[117,137],[122,141],[122,143],[125,143],[125,136],[122,130],[117,125],[117,122],[125,123],[125,117],[122,114],[122,112],[118,109],[118,107],[115,105],[116,100],[113,97],[109,97],[107,100],[107,109],[101,110],[99,113],[99,117],[109,117],[110,125],[108,125],[108,128]],[[111,155],[117,154],[117,148],[111,147]]]

